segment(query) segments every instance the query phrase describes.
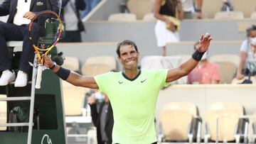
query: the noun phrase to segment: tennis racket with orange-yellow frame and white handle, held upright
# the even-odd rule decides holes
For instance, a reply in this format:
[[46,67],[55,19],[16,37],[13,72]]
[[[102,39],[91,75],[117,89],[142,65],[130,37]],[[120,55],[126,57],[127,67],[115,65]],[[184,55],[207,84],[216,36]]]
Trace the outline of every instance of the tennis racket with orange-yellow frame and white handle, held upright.
[[29,40],[38,59],[38,72],[36,77],[36,89],[41,88],[43,57],[48,55],[60,40],[63,32],[63,23],[57,13],[53,11],[41,11],[29,24]]

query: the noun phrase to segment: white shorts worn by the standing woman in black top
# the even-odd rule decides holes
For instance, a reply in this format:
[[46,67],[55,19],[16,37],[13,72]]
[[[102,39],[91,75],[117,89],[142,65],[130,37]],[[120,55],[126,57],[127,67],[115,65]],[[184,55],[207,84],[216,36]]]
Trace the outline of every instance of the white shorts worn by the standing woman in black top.
[[155,26],[157,46],[163,47],[166,43],[178,43],[180,38],[178,32],[171,32],[166,28],[166,23],[161,20],[156,21]]

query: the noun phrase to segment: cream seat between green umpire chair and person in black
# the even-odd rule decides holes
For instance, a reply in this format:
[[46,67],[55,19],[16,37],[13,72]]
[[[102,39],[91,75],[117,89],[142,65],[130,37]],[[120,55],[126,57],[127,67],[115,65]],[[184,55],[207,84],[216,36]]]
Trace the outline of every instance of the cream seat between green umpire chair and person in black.
[[70,135],[75,135],[75,138],[80,138],[75,140],[85,139],[85,134],[88,134],[88,128],[92,125],[90,124],[90,108],[88,109],[87,106],[86,95],[90,89],[75,87],[73,84],[63,80],[62,85],[63,113],[65,114],[67,138],[72,141],[73,136]]

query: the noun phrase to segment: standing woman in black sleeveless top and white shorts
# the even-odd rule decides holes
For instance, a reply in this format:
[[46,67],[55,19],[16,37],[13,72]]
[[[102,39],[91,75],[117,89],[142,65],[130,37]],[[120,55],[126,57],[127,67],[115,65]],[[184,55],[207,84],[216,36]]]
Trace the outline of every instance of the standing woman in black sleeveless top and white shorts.
[[154,17],[157,19],[157,46],[162,48],[162,55],[166,56],[166,44],[180,41],[178,20],[183,20],[181,0],[154,0]]

